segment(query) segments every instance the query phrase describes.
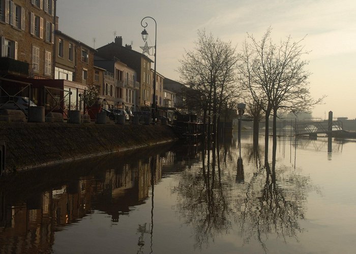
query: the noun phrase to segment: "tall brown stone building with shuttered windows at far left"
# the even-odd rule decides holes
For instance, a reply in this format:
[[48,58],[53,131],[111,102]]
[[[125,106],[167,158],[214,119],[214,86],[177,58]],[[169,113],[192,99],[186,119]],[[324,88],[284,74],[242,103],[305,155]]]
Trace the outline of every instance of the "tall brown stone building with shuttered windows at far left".
[[35,79],[54,77],[55,4],[53,0],[0,1],[0,48],[6,57],[1,61],[11,61],[12,68],[18,69],[8,71]]

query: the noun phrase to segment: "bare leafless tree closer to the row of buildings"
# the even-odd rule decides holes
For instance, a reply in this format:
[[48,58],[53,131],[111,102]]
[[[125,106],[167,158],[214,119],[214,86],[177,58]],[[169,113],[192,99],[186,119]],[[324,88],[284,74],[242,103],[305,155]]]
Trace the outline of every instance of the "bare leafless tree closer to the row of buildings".
[[[236,83],[236,47],[198,31],[195,49],[186,51],[181,60],[181,78],[190,88],[198,91],[195,100],[200,100],[204,111],[203,121],[213,116],[213,132],[216,133],[217,119],[226,100],[235,97],[239,91]],[[192,94],[192,93],[191,93]],[[209,120],[210,122],[210,120]],[[208,133],[210,133],[210,124]]]

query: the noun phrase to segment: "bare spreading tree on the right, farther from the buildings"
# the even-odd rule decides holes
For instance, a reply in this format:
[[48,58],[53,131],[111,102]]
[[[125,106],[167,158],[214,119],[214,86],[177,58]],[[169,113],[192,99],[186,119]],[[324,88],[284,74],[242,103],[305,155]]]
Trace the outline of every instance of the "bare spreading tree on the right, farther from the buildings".
[[270,115],[273,114],[273,136],[277,135],[277,111],[310,112],[322,98],[314,100],[310,96],[306,70],[308,61],[302,57],[309,53],[302,42],[285,41],[275,44],[268,28],[260,41],[248,35],[243,44],[240,74],[243,84],[251,92],[255,102],[265,101],[265,143],[268,147]]

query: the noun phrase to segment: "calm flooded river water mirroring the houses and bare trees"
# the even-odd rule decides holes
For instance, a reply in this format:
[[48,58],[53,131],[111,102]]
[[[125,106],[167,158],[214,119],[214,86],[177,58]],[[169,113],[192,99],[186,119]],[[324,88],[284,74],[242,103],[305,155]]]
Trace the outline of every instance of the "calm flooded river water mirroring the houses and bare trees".
[[354,253],[355,140],[271,139],[267,160],[263,141],[233,133],[216,155],[170,144],[7,178],[0,253]]

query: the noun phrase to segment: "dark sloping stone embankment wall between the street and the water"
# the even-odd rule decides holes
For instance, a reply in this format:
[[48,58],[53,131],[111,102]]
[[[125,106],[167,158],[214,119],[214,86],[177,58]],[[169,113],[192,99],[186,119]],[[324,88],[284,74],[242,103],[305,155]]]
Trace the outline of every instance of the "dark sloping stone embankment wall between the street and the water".
[[167,125],[0,122],[0,141],[6,141],[6,173],[175,139]]

